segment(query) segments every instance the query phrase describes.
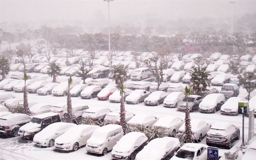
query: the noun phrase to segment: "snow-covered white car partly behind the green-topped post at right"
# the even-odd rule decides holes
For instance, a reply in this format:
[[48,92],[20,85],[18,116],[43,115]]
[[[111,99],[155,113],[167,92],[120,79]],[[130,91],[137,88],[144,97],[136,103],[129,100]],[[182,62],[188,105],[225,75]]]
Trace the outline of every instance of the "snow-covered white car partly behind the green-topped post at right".
[[238,102],[246,101],[242,97],[230,97],[228,100],[221,106],[220,113],[227,115],[238,115]]

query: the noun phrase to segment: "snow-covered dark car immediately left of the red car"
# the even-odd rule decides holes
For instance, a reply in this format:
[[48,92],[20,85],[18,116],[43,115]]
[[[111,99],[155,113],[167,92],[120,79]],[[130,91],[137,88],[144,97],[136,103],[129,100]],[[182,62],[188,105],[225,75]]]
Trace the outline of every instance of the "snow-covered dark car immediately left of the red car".
[[101,90],[100,86],[97,86],[97,85],[88,86],[81,92],[81,98],[92,99],[97,96],[100,90]]

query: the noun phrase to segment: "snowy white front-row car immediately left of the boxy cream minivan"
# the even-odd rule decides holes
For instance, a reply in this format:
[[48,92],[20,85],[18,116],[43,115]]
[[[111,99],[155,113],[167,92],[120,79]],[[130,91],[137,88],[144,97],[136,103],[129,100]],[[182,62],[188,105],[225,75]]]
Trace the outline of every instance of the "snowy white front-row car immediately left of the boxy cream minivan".
[[86,145],[92,133],[100,128],[96,125],[80,124],[69,128],[64,134],[55,139],[54,146],[57,150],[78,150],[79,147]]

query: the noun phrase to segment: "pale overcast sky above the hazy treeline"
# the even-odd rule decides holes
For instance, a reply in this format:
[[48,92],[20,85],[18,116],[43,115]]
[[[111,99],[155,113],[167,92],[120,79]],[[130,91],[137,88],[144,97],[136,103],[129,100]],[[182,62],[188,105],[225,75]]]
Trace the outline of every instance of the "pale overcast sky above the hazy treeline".
[[[176,19],[230,17],[229,0],[114,0],[111,21],[132,17]],[[107,15],[103,0],[0,0],[0,22],[29,20],[86,20]],[[256,0],[236,0],[234,15],[256,13]],[[127,18],[127,19],[126,19]],[[101,19],[101,18],[100,18]]]

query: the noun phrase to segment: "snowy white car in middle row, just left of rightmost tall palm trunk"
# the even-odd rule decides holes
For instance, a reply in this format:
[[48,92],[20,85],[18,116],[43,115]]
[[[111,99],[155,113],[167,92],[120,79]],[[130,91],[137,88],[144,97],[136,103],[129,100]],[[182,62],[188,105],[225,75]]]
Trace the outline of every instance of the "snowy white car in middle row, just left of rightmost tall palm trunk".
[[172,92],[164,99],[164,107],[178,107],[178,103],[185,97],[183,92]]

